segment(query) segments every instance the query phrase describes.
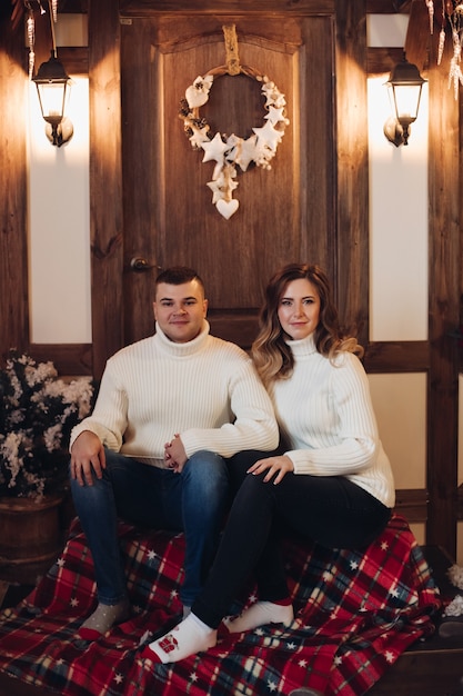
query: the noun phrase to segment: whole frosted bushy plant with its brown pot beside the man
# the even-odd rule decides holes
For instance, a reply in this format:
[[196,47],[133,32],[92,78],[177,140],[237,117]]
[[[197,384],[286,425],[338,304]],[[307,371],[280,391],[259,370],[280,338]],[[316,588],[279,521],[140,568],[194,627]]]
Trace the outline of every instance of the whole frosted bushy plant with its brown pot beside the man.
[[[0,370],[0,577],[43,569],[61,541],[71,429],[93,406],[90,377],[58,377],[52,362],[10,350]],[[20,568],[21,566],[21,568]]]

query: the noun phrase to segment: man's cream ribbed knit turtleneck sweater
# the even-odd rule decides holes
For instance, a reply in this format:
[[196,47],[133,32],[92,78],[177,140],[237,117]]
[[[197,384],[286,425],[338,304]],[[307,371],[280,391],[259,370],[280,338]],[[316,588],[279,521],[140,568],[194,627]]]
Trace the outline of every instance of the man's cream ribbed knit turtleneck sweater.
[[153,336],[123,348],[105,366],[92,415],[70,446],[91,430],[114,451],[163,466],[164,444],[180,434],[188,457],[200,449],[231,457],[271,450],[279,432],[269,395],[249,356],[201,334],[187,344]]

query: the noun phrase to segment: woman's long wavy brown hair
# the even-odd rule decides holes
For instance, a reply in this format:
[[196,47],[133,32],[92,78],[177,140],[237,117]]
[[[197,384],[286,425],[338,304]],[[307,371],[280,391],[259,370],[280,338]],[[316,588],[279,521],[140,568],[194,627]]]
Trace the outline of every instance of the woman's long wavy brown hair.
[[278,310],[288,284],[301,278],[309,280],[320,297],[320,320],[314,331],[316,350],[330,360],[342,350],[360,357],[363,355],[356,338],[344,336],[341,331],[338,309],[323,270],[309,264],[289,264],[276,271],[266,286],[260,314],[260,331],[252,345],[252,357],[265,386],[276,379],[286,379],[293,371],[294,359],[286,344],[289,337],[281,328]]

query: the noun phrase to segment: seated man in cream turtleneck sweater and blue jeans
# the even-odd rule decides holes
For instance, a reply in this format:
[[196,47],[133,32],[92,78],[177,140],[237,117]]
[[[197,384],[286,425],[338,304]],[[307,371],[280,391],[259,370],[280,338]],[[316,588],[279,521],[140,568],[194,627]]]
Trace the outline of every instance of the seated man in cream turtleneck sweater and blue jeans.
[[161,272],[155,334],[108,360],[93,414],[71,434],[71,490],[92,553],[93,640],[130,614],[117,519],[185,535],[184,615],[202,587],[229,498],[225,461],[272,450],[278,426],[251,359],[209,334],[198,274]]

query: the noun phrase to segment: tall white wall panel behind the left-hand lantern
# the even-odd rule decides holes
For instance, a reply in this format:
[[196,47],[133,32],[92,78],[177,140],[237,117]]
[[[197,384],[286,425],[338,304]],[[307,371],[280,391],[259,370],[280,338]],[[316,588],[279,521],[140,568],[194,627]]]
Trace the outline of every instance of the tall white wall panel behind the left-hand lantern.
[[29,111],[31,341],[91,342],[88,79],[73,79],[74,132],[61,148],[44,135],[33,83]]

